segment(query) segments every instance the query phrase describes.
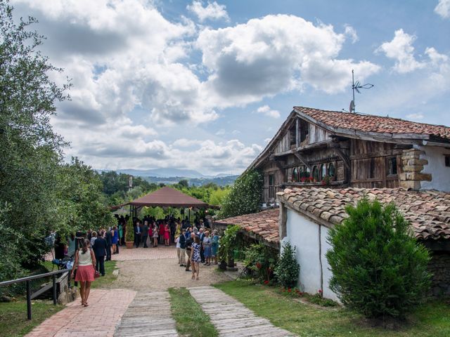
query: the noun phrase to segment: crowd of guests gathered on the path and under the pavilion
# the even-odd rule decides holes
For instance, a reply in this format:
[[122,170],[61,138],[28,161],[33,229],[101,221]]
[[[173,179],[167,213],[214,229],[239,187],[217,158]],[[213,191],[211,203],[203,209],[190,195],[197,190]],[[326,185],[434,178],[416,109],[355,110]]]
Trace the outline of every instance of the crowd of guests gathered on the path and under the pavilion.
[[[116,216],[117,225],[108,229],[77,232],[63,244],[59,238],[55,242],[55,258],[74,258],[72,278],[80,283],[82,305],[88,306],[91,282],[96,276],[105,276],[105,261],[118,254],[125,244],[126,225],[129,216]],[[192,272],[192,279],[199,279],[200,264],[217,265],[219,236],[217,230],[210,231],[207,219],[195,218],[193,224],[187,218],[181,220],[166,216],[156,220],[145,216],[133,219],[134,245],[136,248],[158,244],[176,244],[178,264]]]

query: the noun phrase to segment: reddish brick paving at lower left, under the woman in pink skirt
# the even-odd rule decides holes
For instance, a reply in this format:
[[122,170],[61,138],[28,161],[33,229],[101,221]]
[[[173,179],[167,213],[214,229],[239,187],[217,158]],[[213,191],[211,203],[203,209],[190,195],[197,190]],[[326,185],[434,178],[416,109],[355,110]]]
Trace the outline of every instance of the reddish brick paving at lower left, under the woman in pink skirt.
[[92,289],[89,307],[83,307],[79,299],[49,317],[27,337],[79,337],[113,336],[136,291]]

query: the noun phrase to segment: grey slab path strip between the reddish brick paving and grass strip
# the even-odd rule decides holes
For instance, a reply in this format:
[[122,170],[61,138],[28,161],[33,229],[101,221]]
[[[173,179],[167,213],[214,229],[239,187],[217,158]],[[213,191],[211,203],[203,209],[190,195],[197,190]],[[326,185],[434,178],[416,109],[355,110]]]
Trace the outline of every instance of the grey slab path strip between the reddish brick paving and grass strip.
[[167,291],[139,291],[122,317],[114,337],[178,336]]

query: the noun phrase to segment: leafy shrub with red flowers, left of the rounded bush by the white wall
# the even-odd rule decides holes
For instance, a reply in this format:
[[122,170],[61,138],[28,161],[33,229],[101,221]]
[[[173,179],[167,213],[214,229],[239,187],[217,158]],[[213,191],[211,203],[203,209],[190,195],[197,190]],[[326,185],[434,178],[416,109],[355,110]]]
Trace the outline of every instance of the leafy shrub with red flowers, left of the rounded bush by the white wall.
[[252,244],[245,250],[244,267],[253,278],[269,284],[277,258],[274,249],[265,244]]

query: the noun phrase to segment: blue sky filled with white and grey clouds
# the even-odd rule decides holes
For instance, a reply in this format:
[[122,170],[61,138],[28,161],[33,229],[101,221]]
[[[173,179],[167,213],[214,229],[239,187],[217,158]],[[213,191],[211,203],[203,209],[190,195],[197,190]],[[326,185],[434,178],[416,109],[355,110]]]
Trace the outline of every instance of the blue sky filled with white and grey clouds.
[[294,105],[450,125],[450,0],[11,0],[72,79],[53,126],[95,169],[240,173]]

